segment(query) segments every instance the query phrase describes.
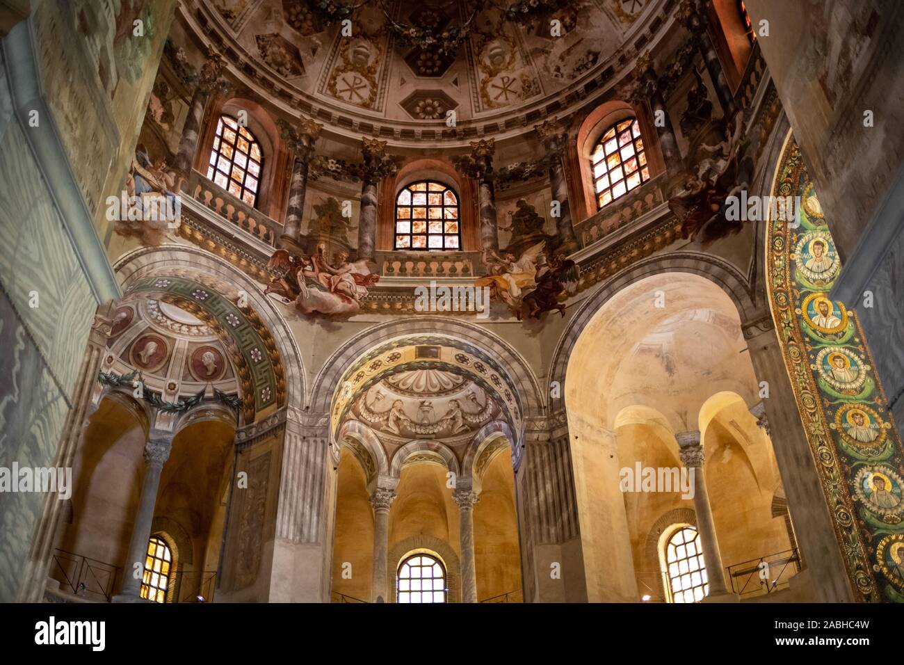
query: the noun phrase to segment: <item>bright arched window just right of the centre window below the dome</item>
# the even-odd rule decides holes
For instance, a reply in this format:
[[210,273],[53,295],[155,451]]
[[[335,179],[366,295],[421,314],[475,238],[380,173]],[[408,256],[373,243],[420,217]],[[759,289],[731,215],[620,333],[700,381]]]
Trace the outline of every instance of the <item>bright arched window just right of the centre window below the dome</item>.
[[644,140],[636,118],[619,120],[599,138],[590,155],[597,209],[650,179]]

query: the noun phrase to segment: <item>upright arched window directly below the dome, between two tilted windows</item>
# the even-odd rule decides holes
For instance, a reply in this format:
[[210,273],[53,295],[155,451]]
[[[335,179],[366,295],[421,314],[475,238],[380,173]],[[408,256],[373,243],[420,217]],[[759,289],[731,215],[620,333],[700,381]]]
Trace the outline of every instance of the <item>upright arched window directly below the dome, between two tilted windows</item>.
[[396,197],[395,243],[397,250],[461,249],[458,195],[432,180],[412,183]]

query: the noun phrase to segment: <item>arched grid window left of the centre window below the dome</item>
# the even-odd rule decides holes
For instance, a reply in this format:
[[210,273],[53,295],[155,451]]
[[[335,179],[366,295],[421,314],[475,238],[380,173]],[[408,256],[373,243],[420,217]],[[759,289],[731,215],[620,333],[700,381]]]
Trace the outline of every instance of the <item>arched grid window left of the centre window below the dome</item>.
[[208,179],[253,206],[258,200],[263,159],[254,135],[239,127],[236,119],[220,116],[207,165]]

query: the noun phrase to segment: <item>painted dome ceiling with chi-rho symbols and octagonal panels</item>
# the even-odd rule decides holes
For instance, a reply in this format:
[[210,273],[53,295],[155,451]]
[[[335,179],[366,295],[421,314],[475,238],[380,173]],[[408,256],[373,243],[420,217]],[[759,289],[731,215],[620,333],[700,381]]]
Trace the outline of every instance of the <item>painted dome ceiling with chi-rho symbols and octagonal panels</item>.
[[189,5],[196,29],[216,27],[225,43],[314,108],[445,124],[450,110],[457,122],[489,119],[576,90],[601,71],[611,75],[613,64],[636,55],[634,45],[622,47],[637,42],[663,0]]

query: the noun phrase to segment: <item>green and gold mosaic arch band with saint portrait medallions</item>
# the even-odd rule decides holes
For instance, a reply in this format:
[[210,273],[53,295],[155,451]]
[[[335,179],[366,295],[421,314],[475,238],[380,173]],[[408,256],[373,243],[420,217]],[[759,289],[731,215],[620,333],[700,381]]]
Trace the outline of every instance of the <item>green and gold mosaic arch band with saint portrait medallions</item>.
[[865,602],[904,602],[904,455],[856,312],[827,298],[841,271],[794,138],[774,196],[799,196],[799,223],[767,223],[767,290],[835,535]]

